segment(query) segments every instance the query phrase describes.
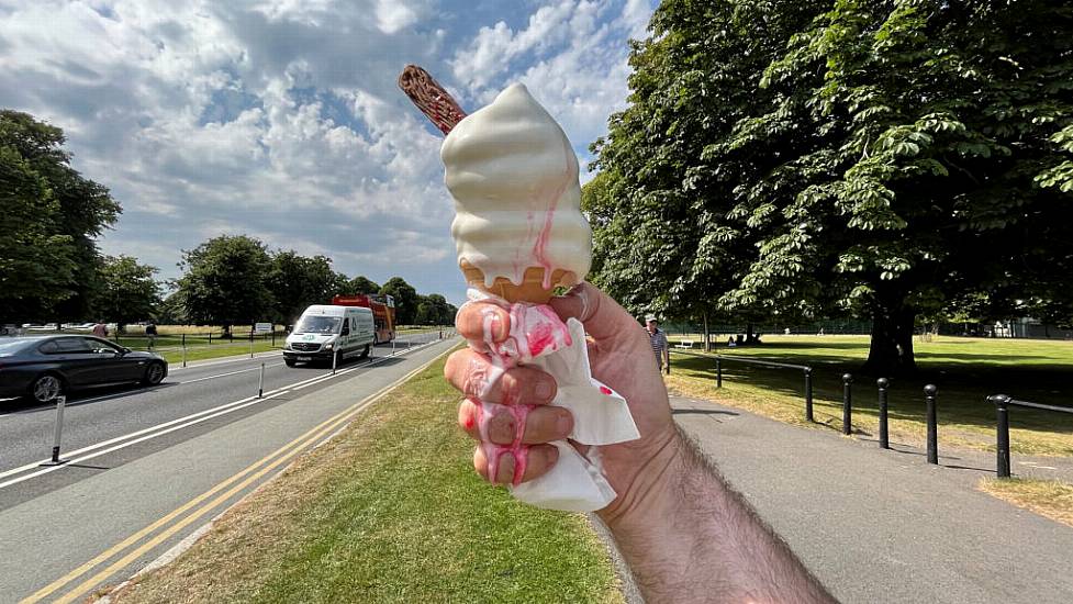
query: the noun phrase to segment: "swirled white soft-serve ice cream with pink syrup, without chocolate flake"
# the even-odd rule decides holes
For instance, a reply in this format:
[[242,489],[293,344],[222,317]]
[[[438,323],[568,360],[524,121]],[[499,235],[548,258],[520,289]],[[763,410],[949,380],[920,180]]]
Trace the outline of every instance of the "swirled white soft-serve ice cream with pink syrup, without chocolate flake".
[[525,86],[455,125],[440,157],[455,198],[451,235],[471,284],[499,293],[496,281],[535,277],[550,291],[584,278],[592,231],[581,215],[578,158]]

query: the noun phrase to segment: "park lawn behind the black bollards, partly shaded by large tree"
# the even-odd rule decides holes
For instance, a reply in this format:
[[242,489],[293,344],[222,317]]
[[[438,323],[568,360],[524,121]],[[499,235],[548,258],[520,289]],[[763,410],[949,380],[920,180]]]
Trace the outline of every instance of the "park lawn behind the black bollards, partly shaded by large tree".
[[[938,387],[937,416],[942,446],[993,451],[995,409],[986,396],[1006,393],[1020,400],[1073,406],[1073,343],[936,337],[915,342],[920,372],[892,379],[888,395],[892,441],[925,440],[926,383]],[[868,357],[867,336],[769,336],[761,346],[726,348],[719,354],[749,356],[813,367],[814,415],[818,426],[841,429],[843,373],[857,373]],[[705,398],[783,422],[806,425],[802,371],[724,360],[723,389],[715,388],[711,357],[672,356],[668,385],[684,395]],[[879,429],[873,377],[856,376],[853,430],[875,438]],[[1010,448],[1016,454],[1073,456],[1073,415],[1010,410]]]

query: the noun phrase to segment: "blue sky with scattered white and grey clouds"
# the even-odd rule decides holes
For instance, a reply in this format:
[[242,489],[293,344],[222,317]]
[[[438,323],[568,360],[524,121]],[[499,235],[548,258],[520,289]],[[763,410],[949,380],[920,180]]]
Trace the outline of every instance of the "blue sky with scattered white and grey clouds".
[[515,81],[589,145],[625,107],[653,0],[0,0],[0,107],[62,127],[123,214],[101,239],[180,275],[247,234],[465,300],[438,130],[395,78],[467,111]]

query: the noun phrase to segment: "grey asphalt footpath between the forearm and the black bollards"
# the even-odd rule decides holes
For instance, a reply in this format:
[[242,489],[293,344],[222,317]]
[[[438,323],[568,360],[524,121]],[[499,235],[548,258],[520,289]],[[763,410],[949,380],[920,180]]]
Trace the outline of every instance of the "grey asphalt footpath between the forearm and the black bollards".
[[[1073,602],[1073,528],[976,491],[994,476],[993,456],[940,450],[945,466],[935,467],[909,447],[884,451],[704,401],[672,404],[843,603]],[[1015,472],[1028,468],[1018,460],[1027,459],[1015,458]],[[1060,466],[1055,476],[1066,473]]]

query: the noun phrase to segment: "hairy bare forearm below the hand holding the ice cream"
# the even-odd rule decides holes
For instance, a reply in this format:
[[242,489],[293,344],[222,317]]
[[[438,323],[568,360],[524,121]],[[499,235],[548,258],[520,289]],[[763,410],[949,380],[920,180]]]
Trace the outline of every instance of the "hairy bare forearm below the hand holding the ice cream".
[[651,463],[604,515],[648,602],[834,602],[684,435]]

